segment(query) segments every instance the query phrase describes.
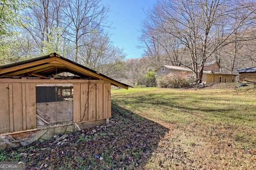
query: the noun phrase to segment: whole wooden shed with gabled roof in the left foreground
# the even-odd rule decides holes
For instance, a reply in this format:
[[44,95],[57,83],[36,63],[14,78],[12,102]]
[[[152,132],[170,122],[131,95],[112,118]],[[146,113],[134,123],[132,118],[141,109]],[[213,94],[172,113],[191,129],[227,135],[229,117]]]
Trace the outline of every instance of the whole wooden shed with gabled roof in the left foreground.
[[56,53],[0,66],[0,149],[108,122],[111,84]]

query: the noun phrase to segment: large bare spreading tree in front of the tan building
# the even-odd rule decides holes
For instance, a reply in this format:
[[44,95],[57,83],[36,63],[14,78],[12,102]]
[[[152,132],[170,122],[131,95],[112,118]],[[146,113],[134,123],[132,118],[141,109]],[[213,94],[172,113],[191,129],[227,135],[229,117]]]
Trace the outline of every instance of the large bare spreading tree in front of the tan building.
[[[233,13],[237,10],[239,18],[237,24],[234,24]],[[159,1],[148,14],[150,24],[147,27],[180,40],[181,48],[190,54],[191,66],[186,66],[194,71],[195,78],[200,83],[206,60],[223,46],[238,41],[230,37],[238,29],[253,23],[254,12],[255,4],[248,1]],[[223,36],[220,36],[220,32],[216,30],[223,17],[230,22],[222,28]],[[245,39],[239,41],[243,40]]]

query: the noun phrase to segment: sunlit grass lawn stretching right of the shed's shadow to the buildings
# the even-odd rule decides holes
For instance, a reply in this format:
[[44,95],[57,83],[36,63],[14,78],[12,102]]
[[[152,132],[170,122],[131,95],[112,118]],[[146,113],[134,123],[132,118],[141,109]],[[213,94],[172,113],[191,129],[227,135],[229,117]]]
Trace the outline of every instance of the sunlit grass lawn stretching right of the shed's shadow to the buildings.
[[114,89],[112,103],[169,129],[145,169],[256,169],[255,88]]

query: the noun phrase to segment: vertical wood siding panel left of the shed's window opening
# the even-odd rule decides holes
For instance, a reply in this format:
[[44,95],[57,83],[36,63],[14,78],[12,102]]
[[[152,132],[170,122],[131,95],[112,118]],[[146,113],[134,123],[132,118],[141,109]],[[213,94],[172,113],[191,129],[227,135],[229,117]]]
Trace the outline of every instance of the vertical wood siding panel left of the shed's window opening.
[[0,133],[36,128],[36,85],[0,83]]

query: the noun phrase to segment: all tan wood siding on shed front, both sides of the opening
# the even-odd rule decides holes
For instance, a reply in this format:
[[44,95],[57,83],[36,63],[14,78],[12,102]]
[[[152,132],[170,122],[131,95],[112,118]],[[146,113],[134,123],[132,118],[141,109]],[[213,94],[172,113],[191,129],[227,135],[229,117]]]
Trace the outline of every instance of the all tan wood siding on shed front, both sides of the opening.
[[101,80],[0,79],[0,134],[37,128],[36,84],[73,83],[73,122],[111,116],[111,83]]

